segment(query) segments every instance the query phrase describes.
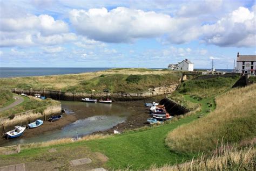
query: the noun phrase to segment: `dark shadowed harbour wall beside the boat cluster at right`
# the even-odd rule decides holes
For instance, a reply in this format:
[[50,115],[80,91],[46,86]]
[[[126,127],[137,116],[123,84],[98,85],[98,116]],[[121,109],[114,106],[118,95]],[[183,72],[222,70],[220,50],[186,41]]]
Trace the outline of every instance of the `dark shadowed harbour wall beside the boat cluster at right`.
[[163,98],[160,101],[160,105],[165,106],[165,109],[170,115],[177,116],[177,115],[184,115],[185,113],[189,112],[190,110],[186,109],[184,106],[172,101],[169,98]]

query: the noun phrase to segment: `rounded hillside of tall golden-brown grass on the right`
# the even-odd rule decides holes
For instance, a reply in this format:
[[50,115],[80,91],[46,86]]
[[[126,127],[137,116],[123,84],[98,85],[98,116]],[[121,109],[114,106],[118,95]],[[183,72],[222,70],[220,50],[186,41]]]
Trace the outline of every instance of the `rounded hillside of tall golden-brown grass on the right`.
[[217,108],[207,116],[181,125],[167,135],[174,151],[212,151],[219,139],[239,143],[256,133],[256,84],[233,89],[217,97]]

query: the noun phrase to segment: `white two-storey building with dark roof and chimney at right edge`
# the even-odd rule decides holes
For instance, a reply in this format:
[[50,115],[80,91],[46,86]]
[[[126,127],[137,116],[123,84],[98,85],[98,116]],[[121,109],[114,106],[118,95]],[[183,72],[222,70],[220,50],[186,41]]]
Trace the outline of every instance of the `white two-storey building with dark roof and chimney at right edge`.
[[235,72],[256,75],[256,55],[239,55],[238,52]]

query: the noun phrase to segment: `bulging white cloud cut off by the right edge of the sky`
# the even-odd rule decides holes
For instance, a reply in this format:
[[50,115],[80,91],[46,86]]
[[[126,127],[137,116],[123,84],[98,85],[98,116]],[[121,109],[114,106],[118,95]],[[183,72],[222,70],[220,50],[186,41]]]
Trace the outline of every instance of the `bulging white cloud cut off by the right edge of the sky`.
[[239,7],[212,25],[202,27],[203,40],[218,46],[256,46],[255,14]]

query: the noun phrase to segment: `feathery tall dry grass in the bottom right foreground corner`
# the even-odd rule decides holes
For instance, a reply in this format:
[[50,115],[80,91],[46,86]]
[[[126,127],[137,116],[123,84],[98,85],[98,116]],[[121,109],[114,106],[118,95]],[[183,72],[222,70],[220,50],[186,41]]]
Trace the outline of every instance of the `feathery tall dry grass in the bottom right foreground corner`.
[[151,171],[167,170],[255,170],[255,148],[246,148],[239,150],[236,147],[228,148],[221,146],[216,149],[218,153],[213,153],[210,157],[202,154],[199,160],[177,164],[174,166],[164,166],[157,168],[151,167]]

